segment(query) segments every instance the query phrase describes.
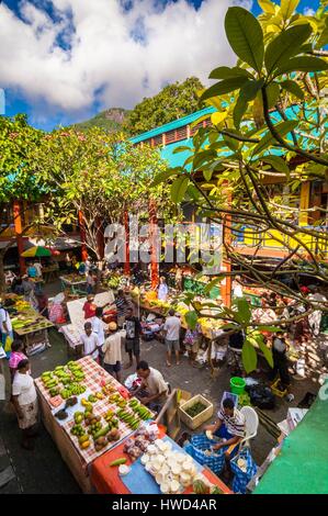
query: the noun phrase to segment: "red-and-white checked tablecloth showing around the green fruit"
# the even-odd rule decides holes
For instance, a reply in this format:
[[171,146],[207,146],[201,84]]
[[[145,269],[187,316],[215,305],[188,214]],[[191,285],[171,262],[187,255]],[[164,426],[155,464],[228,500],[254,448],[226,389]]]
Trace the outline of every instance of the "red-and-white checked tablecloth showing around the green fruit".
[[[118,383],[116,380],[113,379],[109,373],[106,373],[91,357],[84,357],[78,360],[78,363],[82,366],[86,380],[83,380],[83,384],[87,388],[84,394],[77,396],[81,399],[88,394],[88,392],[99,392],[101,390],[101,384],[103,380],[111,380],[111,383],[117,385],[117,391],[124,390],[127,392],[126,389]],[[104,448],[100,451],[95,451],[93,445],[90,448],[82,450],[76,446],[78,442],[77,438],[70,434],[70,428],[73,425],[73,420],[70,418],[68,420],[58,422],[54,416],[54,412],[57,412],[60,407],[54,408],[50,403],[50,396],[48,391],[44,388],[43,381],[41,378],[35,380],[36,390],[38,393],[39,406],[42,418],[44,425],[48,433],[50,434],[52,438],[54,439],[63,460],[67,463],[68,468],[70,469],[72,475],[75,476],[76,481],[80,485],[81,490],[84,493],[91,493],[92,485],[90,481],[90,464],[98,459],[102,453],[105,453],[109,448]],[[93,412],[95,415],[104,414],[109,408],[111,408],[111,403],[105,397],[104,400],[99,400],[93,405]],[[80,408],[77,408],[80,410]],[[121,440],[125,439],[129,435],[132,435],[133,430],[128,428],[125,424],[120,422],[120,430],[121,430]],[[112,442],[109,446],[117,446],[120,441]]]

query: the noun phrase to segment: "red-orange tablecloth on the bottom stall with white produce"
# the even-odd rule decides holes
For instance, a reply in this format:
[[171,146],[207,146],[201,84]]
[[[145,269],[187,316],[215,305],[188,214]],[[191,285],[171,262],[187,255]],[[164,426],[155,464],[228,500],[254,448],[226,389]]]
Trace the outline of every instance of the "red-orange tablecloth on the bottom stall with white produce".
[[[165,437],[165,433],[160,429],[159,437]],[[118,445],[116,448],[103,453],[99,459],[94,460],[91,465],[91,483],[100,494],[137,494],[131,493],[126,487],[121,476],[118,475],[117,467],[110,467],[110,463],[122,457],[126,457],[126,464],[132,463],[129,457],[123,451],[124,442]],[[210,480],[213,484],[217,485],[223,493],[231,494],[231,491],[210,470],[204,469],[202,473]],[[191,493],[192,487],[188,487],[184,493]]]

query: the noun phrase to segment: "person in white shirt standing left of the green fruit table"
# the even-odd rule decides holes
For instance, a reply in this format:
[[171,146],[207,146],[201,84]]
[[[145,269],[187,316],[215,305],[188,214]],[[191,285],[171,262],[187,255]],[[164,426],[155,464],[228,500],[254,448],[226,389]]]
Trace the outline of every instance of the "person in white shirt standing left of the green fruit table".
[[37,424],[37,396],[34,381],[30,372],[30,361],[21,360],[12,383],[12,403],[14,405],[19,426],[23,430],[22,447],[32,450],[32,438],[36,435]]

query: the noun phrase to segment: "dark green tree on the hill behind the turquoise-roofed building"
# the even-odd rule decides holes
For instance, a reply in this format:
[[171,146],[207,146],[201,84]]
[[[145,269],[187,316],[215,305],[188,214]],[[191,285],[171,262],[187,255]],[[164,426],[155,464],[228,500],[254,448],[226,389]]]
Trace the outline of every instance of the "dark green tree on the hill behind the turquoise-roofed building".
[[135,136],[193,113],[199,109],[197,91],[202,88],[196,77],[166,86],[155,97],[137,104],[128,113],[123,128]]

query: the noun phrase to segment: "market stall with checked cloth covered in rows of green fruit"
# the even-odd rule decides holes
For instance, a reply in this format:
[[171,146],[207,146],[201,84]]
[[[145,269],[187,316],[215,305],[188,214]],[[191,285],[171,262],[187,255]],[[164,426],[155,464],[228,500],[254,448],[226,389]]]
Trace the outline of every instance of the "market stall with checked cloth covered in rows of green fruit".
[[35,380],[48,433],[83,492],[90,464],[136,430],[152,414],[94,360],[84,357],[45,371]]

